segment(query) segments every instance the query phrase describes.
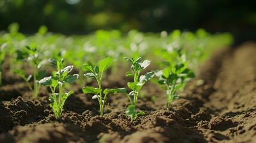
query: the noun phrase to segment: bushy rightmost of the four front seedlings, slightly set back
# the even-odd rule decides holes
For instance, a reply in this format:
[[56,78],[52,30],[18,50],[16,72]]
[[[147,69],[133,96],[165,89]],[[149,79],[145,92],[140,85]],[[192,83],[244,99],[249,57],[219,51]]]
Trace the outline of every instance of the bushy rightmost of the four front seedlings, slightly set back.
[[195,74],[187,68],[186,63],[181,63],[158,71],[156,76],[159,77],[158,83],[166,91],[166,108],[169,108],[171,102],[179,97],[178,89],[182,88],[189,78],[195,77]]

